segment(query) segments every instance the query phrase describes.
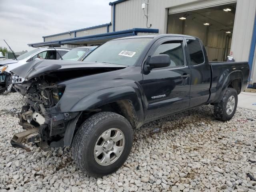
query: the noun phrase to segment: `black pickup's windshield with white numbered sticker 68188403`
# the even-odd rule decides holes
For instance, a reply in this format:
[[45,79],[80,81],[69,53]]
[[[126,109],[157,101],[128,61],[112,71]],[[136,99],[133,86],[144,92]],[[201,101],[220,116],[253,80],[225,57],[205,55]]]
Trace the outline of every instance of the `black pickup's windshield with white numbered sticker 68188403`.
[[84,61],[133,66],[150,40],[152,38],[112,40],[95,49]]

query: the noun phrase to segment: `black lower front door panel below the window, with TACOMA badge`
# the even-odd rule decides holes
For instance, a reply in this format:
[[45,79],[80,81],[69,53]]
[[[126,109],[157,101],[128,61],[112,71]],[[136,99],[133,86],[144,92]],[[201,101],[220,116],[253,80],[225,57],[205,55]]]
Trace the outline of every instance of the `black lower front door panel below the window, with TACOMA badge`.
[[190,77],[182,78],[184,74],[190,74],[188,66],[180,69],[152,70],[143,76],[142,87],[147,100],[145,120],[189,107]]

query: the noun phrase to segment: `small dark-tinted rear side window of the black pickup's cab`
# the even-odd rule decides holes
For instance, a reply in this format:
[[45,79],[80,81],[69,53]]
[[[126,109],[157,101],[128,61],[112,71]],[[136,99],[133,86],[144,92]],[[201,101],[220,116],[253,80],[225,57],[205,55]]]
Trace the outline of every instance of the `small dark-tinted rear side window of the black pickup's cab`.
[[191,65],[204,63],[204,54],[200,42],[192,39],[187,39],[186,42],[188,45]]

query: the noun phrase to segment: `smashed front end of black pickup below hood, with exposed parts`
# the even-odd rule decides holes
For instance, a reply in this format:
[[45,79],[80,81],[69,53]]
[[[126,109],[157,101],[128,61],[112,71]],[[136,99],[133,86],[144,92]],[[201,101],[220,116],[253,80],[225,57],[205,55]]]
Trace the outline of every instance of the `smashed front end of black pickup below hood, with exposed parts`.
[[15,84],[15,88],[27,96],[26,105],[18,113],[19,124],[26,131],[14,134],[12,146],[28,150],[22,143],[36,144],[45,151],[69,146],[80,112],[52,114],[50,110],[61,99],[65,86],[32,81]]

